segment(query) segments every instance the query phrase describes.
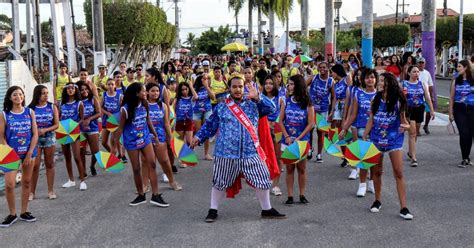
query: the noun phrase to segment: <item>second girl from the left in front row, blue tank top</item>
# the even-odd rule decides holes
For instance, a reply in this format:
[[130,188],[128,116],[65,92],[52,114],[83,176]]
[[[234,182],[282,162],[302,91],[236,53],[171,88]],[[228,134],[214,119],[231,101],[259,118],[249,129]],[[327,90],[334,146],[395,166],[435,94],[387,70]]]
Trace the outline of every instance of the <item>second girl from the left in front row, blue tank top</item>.
[[56,150],[56,138],[54,130],[59,126],[58,108],[53,103],[48,102],[48,88],[38,84],[33,90],[33,99],[29,108],[33,109],[38,126],[38,156],[35,159],[33,176],[31,178],[30,200],[33,200],[38,183],[39,169],[41,164],[41,154],[44,154],[44,164],[46,167],[46,181],[48,183],[48,198],[56,199],[54,193],[54,152]]

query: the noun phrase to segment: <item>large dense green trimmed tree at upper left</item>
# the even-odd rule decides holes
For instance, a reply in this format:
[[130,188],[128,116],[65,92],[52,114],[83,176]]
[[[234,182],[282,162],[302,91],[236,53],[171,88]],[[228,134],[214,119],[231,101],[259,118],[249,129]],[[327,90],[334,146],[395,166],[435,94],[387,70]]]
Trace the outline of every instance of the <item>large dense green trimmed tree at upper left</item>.
[[[91,0],[84,2],[84,13],[87,29],[91,32]],[[103,16],[105,43],[117,47],[114,65],[120,61],[131,65],[150,63],[169,57],[176,28],[167,22],[162,9],[146,2],[106,1]]]

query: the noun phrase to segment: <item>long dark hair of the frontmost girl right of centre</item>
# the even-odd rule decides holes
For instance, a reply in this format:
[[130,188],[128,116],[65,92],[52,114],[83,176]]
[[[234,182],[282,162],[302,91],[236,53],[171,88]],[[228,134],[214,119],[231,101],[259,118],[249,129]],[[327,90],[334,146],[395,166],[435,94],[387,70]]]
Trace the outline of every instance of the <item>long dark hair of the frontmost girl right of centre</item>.
[[384,77],[384,88],[382,92],[377,92],[372,102],[372,114],[375,115],[380,107],[384,92],[386,93],[386,111],[387,113],[393,113],[395,111],[395,105],[400,102],[400,113],[405,112],[407,99],[403,94],[402,88],[398,83],[397,78],[391,73],[384,72],[381,74]]

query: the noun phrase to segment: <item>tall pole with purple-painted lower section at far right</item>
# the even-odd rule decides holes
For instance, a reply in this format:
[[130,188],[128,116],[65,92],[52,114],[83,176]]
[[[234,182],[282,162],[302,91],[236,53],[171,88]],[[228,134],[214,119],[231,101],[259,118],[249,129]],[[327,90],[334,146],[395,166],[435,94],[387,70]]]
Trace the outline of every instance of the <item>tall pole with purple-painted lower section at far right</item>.
[[425,68],[430,72],[433,79],[433,101],[434,105],[437,106],[435,77],[436,0],[423,0],[421,13],[422,54],[426,60]]

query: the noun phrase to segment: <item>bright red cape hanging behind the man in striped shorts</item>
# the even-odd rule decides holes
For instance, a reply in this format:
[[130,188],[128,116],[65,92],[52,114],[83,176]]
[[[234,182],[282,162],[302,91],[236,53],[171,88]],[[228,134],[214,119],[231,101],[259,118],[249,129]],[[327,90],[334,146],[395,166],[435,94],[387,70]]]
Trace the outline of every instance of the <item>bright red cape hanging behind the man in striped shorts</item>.
[[[270,179],[273,180],[275,177],[280,175],[280,168],[278,167],[278,162],[275,155],[275,147],[273,146],[273,140],[270,133],[270,125],[266,116],[258,120],[258,139],[263,151],[265,151],[267,156],[265,163],[268,167],[268,171],[270,172]],[[243,176],[240,174],[235,179],[234,184],[227,189],[226,192],[228,198],[234,198],[235,195],[239,193],[240,189],[242,189],[242,178]],[[252,186],[248,181],[247,184]]]

